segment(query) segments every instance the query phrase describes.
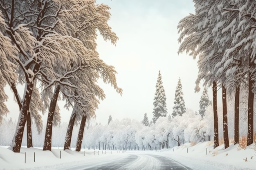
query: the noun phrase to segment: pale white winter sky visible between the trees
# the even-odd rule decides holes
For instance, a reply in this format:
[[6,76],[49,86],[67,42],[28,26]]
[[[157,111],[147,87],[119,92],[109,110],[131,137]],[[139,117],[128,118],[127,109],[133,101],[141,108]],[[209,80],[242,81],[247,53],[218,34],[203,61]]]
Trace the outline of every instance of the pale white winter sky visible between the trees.
[[[99,35],[97,51],[100,58],[115,66],[117,84],[123,89],[122,96],[110,84],[99,80],[106,93],[96,110],[92,122],[107,124],[109,115],[113,119],[129,117],[141,121],[144,113],[153,117],[153,99],[159,70],[166,94],[166,106],[171,115],[174,106],[175,88],[180,77],[186,108],[199,110],[200,96],[194,92],[197,78],[197,61],[191,56],[177,54],[179,35],[177,24],[189,13],[194,13],[192,0],[97,0],[107,4],[111,10],[109,25],[119,40],[116,46],[105,42]],[[18,105],[9,93],[7,106],[9,117],[18,119]],[[209,93],[211,98],[211,94]],[[72,110],[61,108],[62,121],[69,121]],[[47,115],[47,114],[45,114]],[[43,118],[46,122],[46,116]]]

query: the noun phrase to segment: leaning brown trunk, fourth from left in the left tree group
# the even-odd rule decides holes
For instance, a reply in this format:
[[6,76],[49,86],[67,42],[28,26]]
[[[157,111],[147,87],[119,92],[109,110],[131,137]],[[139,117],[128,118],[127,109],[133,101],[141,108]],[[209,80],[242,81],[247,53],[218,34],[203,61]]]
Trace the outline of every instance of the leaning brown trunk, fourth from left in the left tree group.
[[[70,116],[70,121],[67,126],[67,133],[66,133],[66,137],[65,137],[65,144],[64,144],[63,150],[70,149],[75,119],[76,119],[76,106],[74,106],[74,108],[73,108],[72,114]],[[99,148],[100,148],[100,146],[99,146]]]

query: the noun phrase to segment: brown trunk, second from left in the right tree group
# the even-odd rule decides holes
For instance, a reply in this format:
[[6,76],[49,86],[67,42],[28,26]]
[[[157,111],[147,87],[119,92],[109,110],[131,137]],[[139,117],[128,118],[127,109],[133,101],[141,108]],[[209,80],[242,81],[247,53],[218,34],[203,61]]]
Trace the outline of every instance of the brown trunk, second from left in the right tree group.
[[223,108],[223,138],[225,149],[229,147],[229,133],[227,123],[227,92],[226,87],[222,85],[222,108]]

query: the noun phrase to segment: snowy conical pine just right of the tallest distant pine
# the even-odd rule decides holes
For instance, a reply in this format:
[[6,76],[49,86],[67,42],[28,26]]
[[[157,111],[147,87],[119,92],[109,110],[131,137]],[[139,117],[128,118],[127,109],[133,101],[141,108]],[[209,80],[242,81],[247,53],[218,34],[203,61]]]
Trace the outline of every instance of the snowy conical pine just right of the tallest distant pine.
[[185,102],[183,99],[183,92],[182,92],[182,84],[180,78],[178,80],[178,84],[175,90],[175,99],[174,99],[174,106],[173,106],[173,113],[172,116],[175,117],[176,115],[182,115],[186,112]]

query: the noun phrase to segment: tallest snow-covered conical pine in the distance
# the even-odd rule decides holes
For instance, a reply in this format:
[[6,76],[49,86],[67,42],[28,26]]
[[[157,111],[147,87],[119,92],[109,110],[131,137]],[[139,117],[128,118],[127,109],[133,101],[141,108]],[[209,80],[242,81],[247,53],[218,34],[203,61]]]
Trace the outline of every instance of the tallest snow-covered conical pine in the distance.
[[162,116],[166,117],[167,108],[166,108],[166,97],[164,92],[164,86],[162,82],[162,75],[159,71],[157,77],[157,84],[155,85],[155,97],[154,97],[154,109],[153,109],[153,123],[157,121],[157,119]]

